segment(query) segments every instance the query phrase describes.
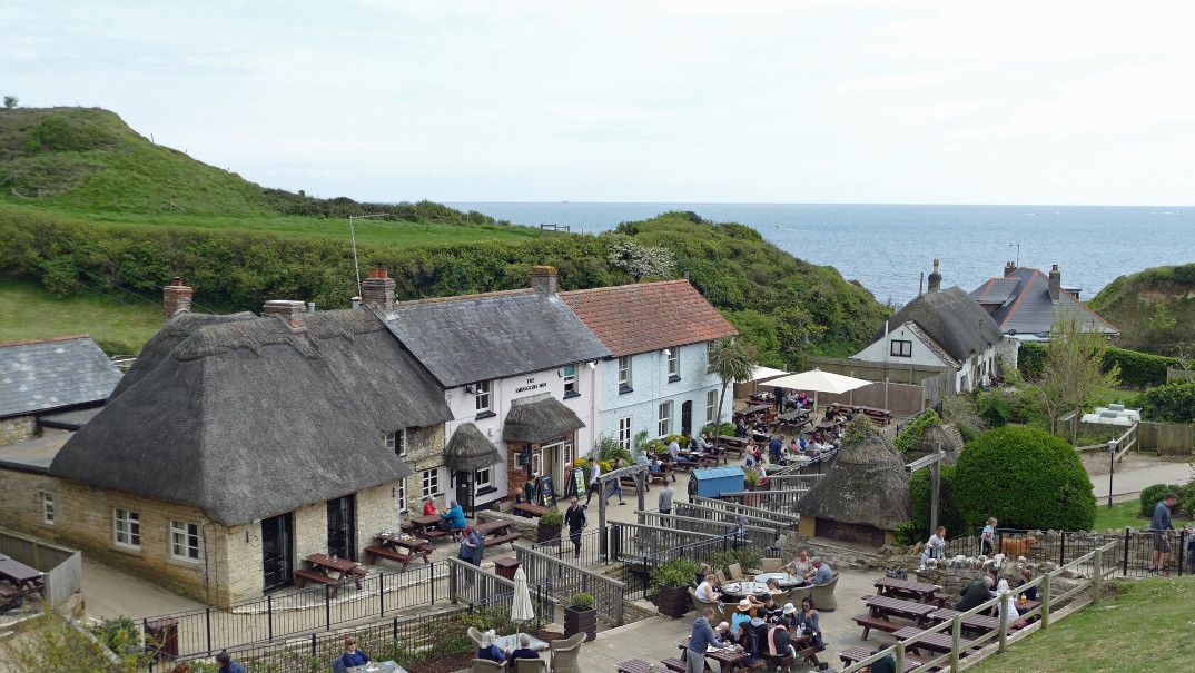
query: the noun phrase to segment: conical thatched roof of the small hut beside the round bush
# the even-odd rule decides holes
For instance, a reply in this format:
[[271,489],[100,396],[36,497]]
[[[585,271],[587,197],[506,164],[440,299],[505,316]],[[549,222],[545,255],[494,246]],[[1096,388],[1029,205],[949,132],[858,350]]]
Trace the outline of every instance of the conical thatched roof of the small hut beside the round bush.
[[796,510],[891,531],[913,518],[905,460],[880,434],[845,443],[826,476],[797,501]]

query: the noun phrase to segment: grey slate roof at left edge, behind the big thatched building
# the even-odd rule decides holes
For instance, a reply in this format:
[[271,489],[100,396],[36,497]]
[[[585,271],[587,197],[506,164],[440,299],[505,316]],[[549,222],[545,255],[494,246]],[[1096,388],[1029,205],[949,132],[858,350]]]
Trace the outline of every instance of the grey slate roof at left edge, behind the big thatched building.
[[120,380],[86,335],[0,343],[0,418],[102,403]]

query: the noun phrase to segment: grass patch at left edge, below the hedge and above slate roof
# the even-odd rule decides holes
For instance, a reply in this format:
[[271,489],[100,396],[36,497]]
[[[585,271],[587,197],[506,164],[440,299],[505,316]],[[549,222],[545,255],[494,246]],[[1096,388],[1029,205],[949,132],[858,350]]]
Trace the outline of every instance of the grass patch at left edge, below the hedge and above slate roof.
[[36,283],[0,281],[0,343],[91,335],[109,355],[135,354],[161,328],[161,306],[108,292],[133,305],[94,294],[59,299]]

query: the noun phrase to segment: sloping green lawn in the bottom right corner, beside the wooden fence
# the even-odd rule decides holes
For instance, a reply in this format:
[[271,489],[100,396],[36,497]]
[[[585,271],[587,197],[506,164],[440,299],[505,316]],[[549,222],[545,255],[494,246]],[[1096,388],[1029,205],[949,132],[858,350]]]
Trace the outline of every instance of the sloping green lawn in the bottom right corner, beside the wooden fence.
[[975,673],[1171,673],[1195,661],[1195,577],[1119,582],[1120,594],[1012,644]]

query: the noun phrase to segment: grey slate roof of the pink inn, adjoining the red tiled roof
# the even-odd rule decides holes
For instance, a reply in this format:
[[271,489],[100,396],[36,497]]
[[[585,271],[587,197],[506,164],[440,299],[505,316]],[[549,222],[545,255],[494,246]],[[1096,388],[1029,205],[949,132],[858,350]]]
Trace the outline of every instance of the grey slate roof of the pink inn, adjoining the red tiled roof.
[[404,301],[386,326],[445,387],[609,356],[559,296],[529,288]]

